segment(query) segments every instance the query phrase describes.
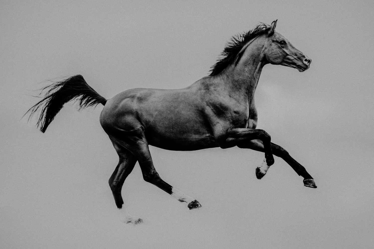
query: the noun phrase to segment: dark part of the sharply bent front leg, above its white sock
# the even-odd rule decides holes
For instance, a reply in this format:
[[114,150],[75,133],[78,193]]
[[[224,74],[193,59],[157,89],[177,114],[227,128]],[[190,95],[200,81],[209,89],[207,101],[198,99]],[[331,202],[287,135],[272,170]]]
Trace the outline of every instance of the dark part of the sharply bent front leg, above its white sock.
[[238,146],[240,144],[250,143],[251,140],[259,139],[263,144],[263,152],[265,153],[265,163],[267,166],[274,164],[272,146],[270,143],[270,135],[261,129],[248,128],[230,128],[227,131],[225,147]]

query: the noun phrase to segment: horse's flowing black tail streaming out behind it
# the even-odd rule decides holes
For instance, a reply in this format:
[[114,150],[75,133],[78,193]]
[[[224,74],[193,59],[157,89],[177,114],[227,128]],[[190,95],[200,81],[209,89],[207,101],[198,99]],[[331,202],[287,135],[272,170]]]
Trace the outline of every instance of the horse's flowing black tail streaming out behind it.
[[37,122],[37,127],[42,133],[47,130],[48,125],[53,121],[64,104],[70,100],[78,101],[79,109],[107,103],[107,99],[93,90],[83,79],[82,75],[74,75],[65,80],[55,82],[43,88],[42,92],[44,90],[47,90],[45,97],[25,113],[26,115],[30,112],[30,119],[35,112],[39,109],[42,110]]

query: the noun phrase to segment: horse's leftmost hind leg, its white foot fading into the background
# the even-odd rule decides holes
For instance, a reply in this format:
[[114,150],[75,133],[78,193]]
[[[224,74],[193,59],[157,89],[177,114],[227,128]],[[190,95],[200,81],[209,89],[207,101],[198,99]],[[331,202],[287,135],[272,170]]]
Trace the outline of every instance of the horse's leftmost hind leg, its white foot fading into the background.
[[139,217],[132,216],[127,212],[121,195],[123,183],[125,182],[126,177],[131,173],[132,169],[134,169],[137,159],[131,152],[117,144],[115,141],[111,141],[119,156],[119,162],[109,178],[109,186],[119,210],[120,219],[126,223],[139,224],[143,220]]

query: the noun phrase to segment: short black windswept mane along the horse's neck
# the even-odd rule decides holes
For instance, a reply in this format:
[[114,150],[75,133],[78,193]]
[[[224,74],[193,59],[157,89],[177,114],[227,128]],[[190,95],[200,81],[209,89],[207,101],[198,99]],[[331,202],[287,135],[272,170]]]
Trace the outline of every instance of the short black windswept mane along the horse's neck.
[[254,29],[239,35],[234,35],[227,43],[226,47],[221,53],[221,58],[217,60],[217,63],[212,66],[210,76],[217,75],[223,71],[228,65],[230,65],[236,55],[240,52],[243,46],[253,38],[265,33],[270,28],[270,25],[260,22]]

